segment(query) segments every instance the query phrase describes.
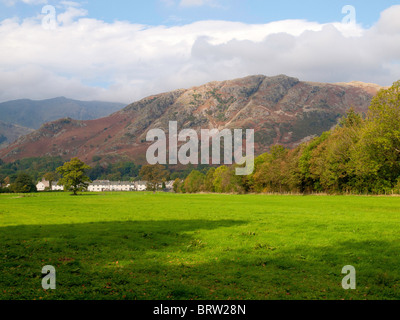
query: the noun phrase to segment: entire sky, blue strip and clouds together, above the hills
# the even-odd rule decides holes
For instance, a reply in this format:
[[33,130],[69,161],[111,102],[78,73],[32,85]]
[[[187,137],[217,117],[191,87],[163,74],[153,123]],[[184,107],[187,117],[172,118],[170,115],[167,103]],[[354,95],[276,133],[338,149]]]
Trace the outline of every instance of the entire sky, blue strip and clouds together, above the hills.
[[128,104],[254,74],[388,86],[399,44],[389,0],[0,0],[0,102]]

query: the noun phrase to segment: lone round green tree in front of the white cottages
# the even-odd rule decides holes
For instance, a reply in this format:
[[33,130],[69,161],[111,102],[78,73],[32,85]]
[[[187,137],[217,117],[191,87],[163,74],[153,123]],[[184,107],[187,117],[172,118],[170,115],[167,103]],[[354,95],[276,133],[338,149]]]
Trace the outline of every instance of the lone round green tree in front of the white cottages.
[[86,175],[86,171],[91,168],[78,158],[71,159],[64,163],[62,167],[57,168],[61,175],[58,185],[63,185],[66,190],[71,190],[76,196],[78,191],[86,190],[89,183],[92,182]]

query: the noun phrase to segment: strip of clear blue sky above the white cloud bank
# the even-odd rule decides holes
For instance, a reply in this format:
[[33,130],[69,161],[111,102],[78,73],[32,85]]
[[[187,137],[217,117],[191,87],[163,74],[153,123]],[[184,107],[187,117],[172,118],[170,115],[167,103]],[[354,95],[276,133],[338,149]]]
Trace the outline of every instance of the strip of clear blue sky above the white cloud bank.
[[[199,0],[201,2],[201,0]],[[10,17],[26,18],[40,14],[43,3],[33,4],[13,0],[2,0],[0,20]],[[14,1],[15,2],[15,1]],[[27,0],[29,2],[29,0]],[[58,5],[62,1],[47,1]],[[382,10],[398,1],[381,0],[215,0],[204,1],[204,5],[182,6],[180,0],[92,0],[75,1],[88,11],[88,17],[113,22],[126,20],[146,25],[175,25],[199,20],[226,20],[245,23],[266,23],[284,19],[305,19],[327,23],[340,21],[343,6],[357,9],[357,20],[365,27],[379,19]],[[36,4],[35,4],[36,3]],[[8,4],[8,5],[7,5]]]

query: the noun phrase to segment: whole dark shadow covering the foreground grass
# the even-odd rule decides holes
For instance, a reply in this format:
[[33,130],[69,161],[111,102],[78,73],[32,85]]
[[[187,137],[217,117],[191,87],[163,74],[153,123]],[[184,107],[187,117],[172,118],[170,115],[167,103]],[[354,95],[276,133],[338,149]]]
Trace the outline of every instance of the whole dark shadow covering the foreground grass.
[[[0,228],[0,299],[400,298],[399,241],[273,247],[245,241],[238,230],[238,241],[246,243],[240,249],[201,242],[202,230],[215,230],[217,237],[219,228],[245,223],[166,220]],[[45,265],[56,267],[55,291],[41,289]],[[357,290],[341,287],[345,265],[357,270]]]

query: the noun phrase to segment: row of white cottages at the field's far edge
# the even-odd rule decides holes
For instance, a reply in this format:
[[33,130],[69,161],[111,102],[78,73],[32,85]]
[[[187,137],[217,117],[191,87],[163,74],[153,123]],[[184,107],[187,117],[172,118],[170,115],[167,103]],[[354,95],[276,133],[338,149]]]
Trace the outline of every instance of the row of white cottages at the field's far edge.
[[[168,181],[165,183],[166,189],[173,189],[174,181]],[[160,185],[161,188],[161,185]],[[45,191],[50,189],[50,182],[42,180],[36,185],[38,191]],[[58,181],[52,182],[52,191],[62,191],[63,186],[58,185]],[[89,192],[104,192],[104,191],[146,191],[147,181],[109,181],[109,180],[96,180],[89,184]]]

